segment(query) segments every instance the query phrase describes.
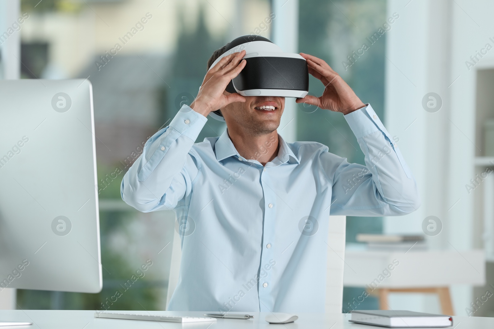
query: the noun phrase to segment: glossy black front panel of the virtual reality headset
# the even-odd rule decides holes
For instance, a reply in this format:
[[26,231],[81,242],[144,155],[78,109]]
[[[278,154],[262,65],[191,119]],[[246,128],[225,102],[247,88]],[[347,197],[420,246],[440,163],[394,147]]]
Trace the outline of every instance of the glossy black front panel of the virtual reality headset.
[[[309,71],[307,62],[303,59],[251,57],[246,58],[246,61],[246,66],[242,72],[233,79],[238,90],[291,89],[309,91]],[[231,81],[228,87],[233,87]]]

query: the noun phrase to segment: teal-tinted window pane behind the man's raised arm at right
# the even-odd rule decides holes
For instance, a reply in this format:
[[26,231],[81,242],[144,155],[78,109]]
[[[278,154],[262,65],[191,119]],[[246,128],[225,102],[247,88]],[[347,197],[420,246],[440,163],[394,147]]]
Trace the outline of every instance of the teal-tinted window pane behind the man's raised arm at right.
[[[386,33],[380,35],[378,30],[386,19],[385,0],[300,0],[299,51],[325,60],[362,102],[371,104],[384,124]],[[312,95],[321,96],[323,83],[313,76],[309,79]],[[357,139],[341,113],[302,104],[298,108],[297,140],[322,143],[350,163],[365,164]],[[355,243],[358,233],[382,233],[382,218],[348,216],[346,242]],[[344,288],[343,312],[352,310],[348,303],[363,290]],[[358,308],[378,309],[377,299],[368,297]]]

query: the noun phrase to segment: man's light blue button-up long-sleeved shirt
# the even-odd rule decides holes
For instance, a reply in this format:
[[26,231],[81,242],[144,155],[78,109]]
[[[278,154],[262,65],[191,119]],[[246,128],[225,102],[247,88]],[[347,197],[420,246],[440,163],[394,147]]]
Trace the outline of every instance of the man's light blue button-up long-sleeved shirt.
[[168,310],[324,312],[329,215],[405,215],[420,203],[399,138],[371,106],[344,117],[367,166],[279,135],[265,167],[227,130],[194,144],[207,119],[187,105],[148,140],[121,194],[141,212],[176,213],[182,260]]

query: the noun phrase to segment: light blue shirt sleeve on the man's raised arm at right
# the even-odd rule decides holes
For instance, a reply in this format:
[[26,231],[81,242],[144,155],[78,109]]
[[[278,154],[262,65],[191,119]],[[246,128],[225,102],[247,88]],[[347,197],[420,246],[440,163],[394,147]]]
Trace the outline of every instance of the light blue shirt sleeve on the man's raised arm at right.
[[396,216],[415,211],[420,206],[417,185],[397,146],[399,138],[388,133],[370,104],[344,117],[366,166],[337,157],[331,214]]

